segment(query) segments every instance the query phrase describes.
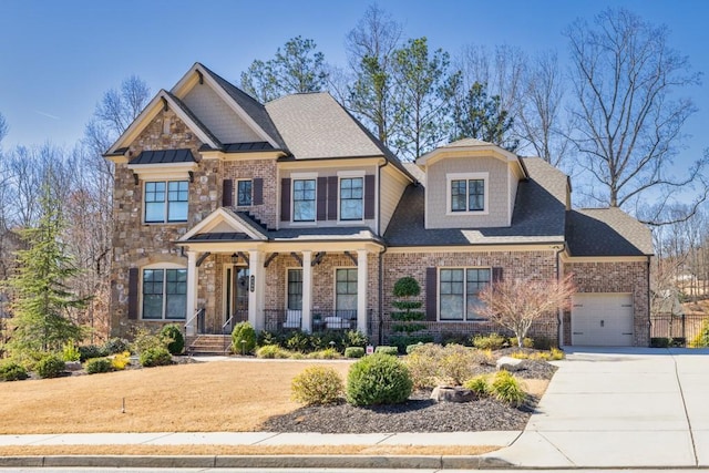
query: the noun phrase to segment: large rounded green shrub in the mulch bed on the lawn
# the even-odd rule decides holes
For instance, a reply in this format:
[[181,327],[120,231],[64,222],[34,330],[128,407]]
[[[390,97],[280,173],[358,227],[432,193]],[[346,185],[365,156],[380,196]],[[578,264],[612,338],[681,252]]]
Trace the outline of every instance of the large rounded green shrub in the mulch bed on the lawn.
[[411,395],[407,366],[382,352],[356,361],[347,377],[347,402],[353,405],[397,404]]

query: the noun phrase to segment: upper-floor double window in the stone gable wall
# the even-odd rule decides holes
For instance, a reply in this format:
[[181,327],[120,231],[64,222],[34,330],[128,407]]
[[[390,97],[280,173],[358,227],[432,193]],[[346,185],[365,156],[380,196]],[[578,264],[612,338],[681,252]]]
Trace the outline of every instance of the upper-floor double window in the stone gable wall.
[[187,181],[145,183],[145,223],[187,222]]

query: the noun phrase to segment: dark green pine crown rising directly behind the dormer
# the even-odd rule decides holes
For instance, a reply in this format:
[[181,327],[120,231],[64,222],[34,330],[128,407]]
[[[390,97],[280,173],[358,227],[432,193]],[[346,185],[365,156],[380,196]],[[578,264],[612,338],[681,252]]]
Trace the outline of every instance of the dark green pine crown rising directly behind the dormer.
[[514,119],[502,109],[500,95],[487,96],[485,84],[475,82],[453,105],[451,141],[477,138],[514,152],[520,142],[508,136]]

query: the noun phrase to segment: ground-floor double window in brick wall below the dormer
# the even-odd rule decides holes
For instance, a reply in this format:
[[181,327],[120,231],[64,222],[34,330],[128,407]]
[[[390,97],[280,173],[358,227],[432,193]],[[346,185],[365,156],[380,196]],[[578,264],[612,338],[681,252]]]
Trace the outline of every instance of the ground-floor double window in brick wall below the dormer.
[[440,319],[476,320],[480,291],[490,284],[490,268],[445,268],[440,276]]

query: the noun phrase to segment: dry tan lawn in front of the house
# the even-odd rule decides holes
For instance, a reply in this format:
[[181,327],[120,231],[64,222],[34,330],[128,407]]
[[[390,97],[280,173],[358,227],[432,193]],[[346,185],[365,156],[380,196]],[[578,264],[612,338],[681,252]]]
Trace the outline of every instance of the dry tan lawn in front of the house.
[[[0,433],[248,432],[314,361],[215,361],[0,383]],[[323,362],[345,378],[349,362]],[[125,412],[122,412],[125,399]]]

